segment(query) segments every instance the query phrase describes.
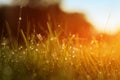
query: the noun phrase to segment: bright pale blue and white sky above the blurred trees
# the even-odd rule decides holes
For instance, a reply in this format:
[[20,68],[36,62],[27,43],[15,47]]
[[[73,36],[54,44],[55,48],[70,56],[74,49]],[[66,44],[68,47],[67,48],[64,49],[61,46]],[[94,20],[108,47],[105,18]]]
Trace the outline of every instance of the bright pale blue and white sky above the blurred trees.
[[[0,5],[11,1],[0,0]],[[61,6],[65,11],[84,12],[99,31],[114,33],[120,28],[120,0],[62,0]]]

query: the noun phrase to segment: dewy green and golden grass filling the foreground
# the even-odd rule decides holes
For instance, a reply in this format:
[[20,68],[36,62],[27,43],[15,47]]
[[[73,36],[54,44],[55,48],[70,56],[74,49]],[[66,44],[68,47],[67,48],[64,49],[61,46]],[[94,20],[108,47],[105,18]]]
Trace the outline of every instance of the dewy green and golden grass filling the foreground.
[[[80,40],[70,35],[60,40],[48,25],[48,37],[21,30],[25,46],[0,45],[0,80],[119,80],[120,42]],[[85,44],[86,43],[86,44]]]

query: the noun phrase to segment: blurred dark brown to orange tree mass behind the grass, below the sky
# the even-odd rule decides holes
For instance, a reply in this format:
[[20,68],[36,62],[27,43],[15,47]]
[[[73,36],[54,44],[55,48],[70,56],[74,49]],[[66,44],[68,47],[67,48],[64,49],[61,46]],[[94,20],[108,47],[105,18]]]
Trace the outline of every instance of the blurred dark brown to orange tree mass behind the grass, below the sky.
[[[22,20],[19,23],[20,16]],[[95,32],[83,13],[65,13],[58,4],[37,8],[28,5],[21,10],[20,6],[0,8],[0,35],[2,36],[8,36],[10,33],[16,38],[18,32],[19,36],[21,35],[21,29],[25,35],[35,31],[46,36],[48,34],[47,22],[50,23],[53,31],[62,31],[62,36],[78,34],[82,38],[91,38]]]

